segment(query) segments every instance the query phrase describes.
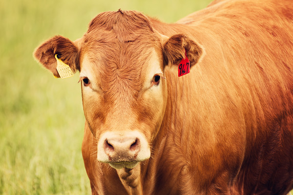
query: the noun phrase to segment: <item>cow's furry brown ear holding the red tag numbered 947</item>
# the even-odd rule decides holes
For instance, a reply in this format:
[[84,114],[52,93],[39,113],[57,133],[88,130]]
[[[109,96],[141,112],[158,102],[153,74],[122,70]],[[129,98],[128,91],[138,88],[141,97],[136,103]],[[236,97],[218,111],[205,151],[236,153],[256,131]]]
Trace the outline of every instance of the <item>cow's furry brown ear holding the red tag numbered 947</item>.
[[163,47],[165,64],[179,65],[180,61],[185,58],[186,51],[191,67],[199,61],[204,53],[199,44],[183,34],[170,37]]

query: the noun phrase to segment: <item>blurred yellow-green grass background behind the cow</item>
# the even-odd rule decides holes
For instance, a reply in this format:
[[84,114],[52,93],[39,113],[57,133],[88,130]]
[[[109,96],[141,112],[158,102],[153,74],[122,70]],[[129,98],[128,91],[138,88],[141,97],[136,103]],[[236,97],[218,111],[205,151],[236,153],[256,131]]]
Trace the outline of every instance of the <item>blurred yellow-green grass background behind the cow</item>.
[[175,22],[211,0],[0,0],[0,195],[89,195],[81,153],[79,74],[56,79],[32,53],[83,36],[100,12],[137,10]]

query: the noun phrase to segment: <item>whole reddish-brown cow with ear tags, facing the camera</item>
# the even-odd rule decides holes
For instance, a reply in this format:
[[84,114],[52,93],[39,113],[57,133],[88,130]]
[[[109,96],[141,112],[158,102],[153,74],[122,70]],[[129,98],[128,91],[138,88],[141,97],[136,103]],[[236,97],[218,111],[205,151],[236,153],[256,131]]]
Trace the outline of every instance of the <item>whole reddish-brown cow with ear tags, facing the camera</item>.
[[60,77],[56,54],[80,71],[93,195],[293,188],[292,0],[217,0],[174,24],[105,12],[36,49]]

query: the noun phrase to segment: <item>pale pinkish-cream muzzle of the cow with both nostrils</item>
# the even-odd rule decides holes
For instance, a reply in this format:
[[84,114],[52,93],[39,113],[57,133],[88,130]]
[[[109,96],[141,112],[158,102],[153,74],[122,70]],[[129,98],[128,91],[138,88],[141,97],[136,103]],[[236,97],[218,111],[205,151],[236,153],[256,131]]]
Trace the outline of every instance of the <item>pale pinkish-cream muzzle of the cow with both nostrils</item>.
[[109,163],[115,169],[132,169],[149,157],[148,142],[138,131],[124,134],[105,132],[98,142],[98,160]]

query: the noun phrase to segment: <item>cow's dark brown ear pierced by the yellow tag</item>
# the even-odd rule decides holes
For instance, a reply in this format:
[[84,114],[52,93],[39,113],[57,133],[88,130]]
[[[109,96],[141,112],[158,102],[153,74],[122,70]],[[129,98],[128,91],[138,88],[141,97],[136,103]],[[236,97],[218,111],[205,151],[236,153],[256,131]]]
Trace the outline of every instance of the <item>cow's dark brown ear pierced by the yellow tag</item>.
[[35,58],[42,63],[42,65],[50,70],[53,75],[60,78],[57,72],[57,60],[55,55],[65,64],[69,65],[73,73],[80,70],[79,67],[79,49],[77,45],[71,40],[62,36],[55,36],[42,43],[35,51]]

